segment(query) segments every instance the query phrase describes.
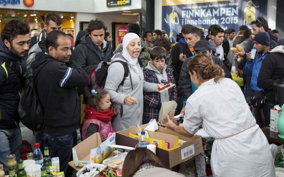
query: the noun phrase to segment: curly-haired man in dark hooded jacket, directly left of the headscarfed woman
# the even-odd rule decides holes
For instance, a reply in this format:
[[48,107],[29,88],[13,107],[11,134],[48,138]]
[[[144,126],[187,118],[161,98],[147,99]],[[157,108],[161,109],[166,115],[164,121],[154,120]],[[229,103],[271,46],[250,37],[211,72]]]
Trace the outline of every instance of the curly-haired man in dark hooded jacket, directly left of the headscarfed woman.
[[87,74],[90,74],[101,61],[110,64],[112,58],[111,41],[105,41],[105,31],[108,28],[103,21],[96,19],[89,22],[86,29],[88,34],[80,39],[80,44],[75,47],[70,60],[79,64]]

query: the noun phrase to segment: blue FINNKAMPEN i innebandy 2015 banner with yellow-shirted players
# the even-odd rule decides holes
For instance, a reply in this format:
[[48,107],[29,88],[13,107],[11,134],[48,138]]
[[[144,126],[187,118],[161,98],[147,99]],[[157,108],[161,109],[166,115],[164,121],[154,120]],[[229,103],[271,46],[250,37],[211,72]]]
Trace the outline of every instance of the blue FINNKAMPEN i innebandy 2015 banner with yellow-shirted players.
[[237,33],[241,25],[251,28],[252,21],[266,15],[267,0],[162,0],[162,29],[172,43],[185,24],[203,28],[204,35],[212,24]]

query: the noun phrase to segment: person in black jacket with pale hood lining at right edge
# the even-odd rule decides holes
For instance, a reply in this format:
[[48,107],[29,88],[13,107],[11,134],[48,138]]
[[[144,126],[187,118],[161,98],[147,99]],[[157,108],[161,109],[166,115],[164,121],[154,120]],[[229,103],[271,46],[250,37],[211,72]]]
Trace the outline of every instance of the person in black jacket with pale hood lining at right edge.
[[[268,55],[262,61],[257,78],[257,87],[264,89],[264,95],[267,97],[263,106],[263,111],[267,113],[274,107],[273,83],[284,78],[284,45],[279,45],[268,50]],[[279,105],[282,106],[282,105]],[[269,114],[267,114],[269,115]],[[270,116],[266,116],[267,123]],[[266,123],[266,124],[267,124]]]

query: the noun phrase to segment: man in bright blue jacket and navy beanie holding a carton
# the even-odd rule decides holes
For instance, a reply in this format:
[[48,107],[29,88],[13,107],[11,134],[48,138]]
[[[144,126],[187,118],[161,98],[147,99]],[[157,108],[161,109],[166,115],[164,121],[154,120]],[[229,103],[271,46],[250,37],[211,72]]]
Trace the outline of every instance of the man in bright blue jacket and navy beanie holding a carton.
[[[252,90],[252,92],[257,92],[261,90],[261,88],[257,87],[257,78],[262,65],[262,61],[267,56],[267,50],[271,48],[269,34],[267,32],[259,32],[254,36],[253,43],[253,47],[257,50],[257,56],[254,57],[254,59],[251,59],[251,52],[247,53],[245,73],[247,75],[252,75],[250,81],[250,89]],[[263,126],[265,126],[266,123],[264,121],[259,120],[259,118],[261,117],[257,114],[259,110],[257,110],[256,108],[254,108],[254,110],[256,113],[255,118],[257,120],[257,124],[259,124],[259,126],[262,126],[262,124]],[[264,111],[263,114],[264,117],[270,116],[270,113],[267,113],[267,111]]]

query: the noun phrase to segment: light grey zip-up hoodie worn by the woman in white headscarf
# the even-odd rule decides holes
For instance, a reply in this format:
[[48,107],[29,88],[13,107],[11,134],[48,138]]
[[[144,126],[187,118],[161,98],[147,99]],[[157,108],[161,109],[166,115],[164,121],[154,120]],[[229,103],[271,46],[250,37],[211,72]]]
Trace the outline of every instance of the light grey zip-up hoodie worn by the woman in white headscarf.
[[[127,62],[122,53],[115,54],[111,61],[121,60]],[[108,76],[105,82],[104,90],[110,94],[110,99],[114,106],[119,109],[119,113],[112,122],[112,128],[115,132],[128,129],[130,126],[142,125],[143,115],[143,90],[154,92],[158,84],[144,81],[143,70],[136,62],[138,71],[127,62],[129,75],[124,80],[124,85],[120,85],[124,76],[124,68],[121,63],[115,62],[108,68]],[[131,76],[131,80],[130,80]],[[131,87],[131,81],[133,88]],[[124,98],[131,96],[137,99],[137,104],[131,106],[124,104]],[[122,116],[121,116],[122,115]]]

